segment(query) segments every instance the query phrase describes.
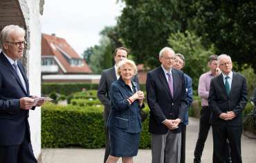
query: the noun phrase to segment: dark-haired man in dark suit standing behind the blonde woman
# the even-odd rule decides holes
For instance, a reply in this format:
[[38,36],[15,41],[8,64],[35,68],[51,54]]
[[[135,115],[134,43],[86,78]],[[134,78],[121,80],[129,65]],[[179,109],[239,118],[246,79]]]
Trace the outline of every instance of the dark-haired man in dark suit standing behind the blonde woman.
[[[128,50],[125,47],[118,47],[114,52],[114,60],[115,65],[109,69],[104,69],[100,78],[100,84],[98,87],[98,98],[100,102],[104,105],[104,124],[105,124],[105,131],[106,131],[106,143],[105,143],[105,155],[104,155],[104,162],[107,161],[107,157],[109,157],[109,133],[107,129],[107,120],[109,118],[109,111],[110,111],[110,100],[109,100],[109,88],[111,84],[118,80],[120,76],[116,71],[117,64],[126,59],[128,56]],[[138,83],[138,76],[132,78],[132,80]]]

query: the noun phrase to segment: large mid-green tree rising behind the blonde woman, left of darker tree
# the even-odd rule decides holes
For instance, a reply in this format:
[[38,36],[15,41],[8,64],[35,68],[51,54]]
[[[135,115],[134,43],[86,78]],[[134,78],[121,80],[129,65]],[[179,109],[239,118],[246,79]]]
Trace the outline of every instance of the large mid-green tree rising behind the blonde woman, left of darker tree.
[[136,63],[155,67],[159,51],[168,45],[171,33],[181,29],[178,2],[159,0],[124,0],[126,6],[118,19],[118,30]]

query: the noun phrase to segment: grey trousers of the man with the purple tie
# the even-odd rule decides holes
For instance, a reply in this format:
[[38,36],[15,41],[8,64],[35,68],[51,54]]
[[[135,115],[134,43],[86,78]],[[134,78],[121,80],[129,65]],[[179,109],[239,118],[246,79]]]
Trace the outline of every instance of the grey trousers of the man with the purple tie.
[[181,133],[152,134],[152,163],[181,161]]

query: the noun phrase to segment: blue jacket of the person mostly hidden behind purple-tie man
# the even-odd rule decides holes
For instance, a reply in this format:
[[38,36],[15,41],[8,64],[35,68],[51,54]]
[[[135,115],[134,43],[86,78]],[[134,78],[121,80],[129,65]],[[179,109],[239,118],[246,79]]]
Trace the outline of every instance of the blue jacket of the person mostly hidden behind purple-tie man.
[[[185,76],[185,87],[187,92],[188,107],[190,107],[193,101],[193,89],[192,89],[192,78],[184,73]],[[188,108],[189,109],[189,108]],[[188,109],[185,113],[183,124],[188,125]]]

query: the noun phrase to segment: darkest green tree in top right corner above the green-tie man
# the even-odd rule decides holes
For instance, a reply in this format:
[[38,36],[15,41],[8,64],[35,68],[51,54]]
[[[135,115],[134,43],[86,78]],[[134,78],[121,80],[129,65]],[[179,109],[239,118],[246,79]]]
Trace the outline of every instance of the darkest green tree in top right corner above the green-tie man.
[[190,29],[205,45],[214,43],[217,54],[228,54],[240,65],[256,70],[256,1],[194,0]]

